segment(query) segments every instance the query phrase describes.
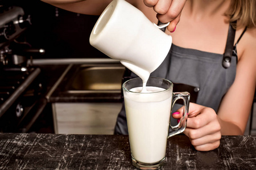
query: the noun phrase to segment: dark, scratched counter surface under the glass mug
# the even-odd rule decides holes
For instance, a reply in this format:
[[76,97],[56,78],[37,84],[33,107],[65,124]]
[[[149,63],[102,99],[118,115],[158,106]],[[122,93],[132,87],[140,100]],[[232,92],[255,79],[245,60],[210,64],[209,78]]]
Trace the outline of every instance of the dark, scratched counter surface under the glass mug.
[[[0,169],[136,169],[127,135],[0,134]],[[256,169],[256,136],[223,136],[209,152],[168,139],[162,169]]]

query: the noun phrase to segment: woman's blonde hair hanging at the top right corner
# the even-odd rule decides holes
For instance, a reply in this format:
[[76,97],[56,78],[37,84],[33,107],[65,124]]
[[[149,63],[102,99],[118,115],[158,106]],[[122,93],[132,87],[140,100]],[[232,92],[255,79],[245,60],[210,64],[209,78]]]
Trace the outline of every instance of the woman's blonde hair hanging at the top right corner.
[[256,0],[231,0],[226,15],[237,27],[256,27]]

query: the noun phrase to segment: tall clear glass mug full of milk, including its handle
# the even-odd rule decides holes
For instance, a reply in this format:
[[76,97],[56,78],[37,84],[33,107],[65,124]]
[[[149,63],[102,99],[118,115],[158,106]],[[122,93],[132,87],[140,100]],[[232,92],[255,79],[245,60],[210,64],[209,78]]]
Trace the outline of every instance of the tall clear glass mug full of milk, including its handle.
[[[133,165],[158,169],[166,159],[167,139],[185,130],[190,94],[172,92],[172,82],[155,77],[148,79],[147,93],[141,92],[141,78],[127,80],[122,88]],[[178,99],[184,101],[183,117],[171,126],[172,107]]]

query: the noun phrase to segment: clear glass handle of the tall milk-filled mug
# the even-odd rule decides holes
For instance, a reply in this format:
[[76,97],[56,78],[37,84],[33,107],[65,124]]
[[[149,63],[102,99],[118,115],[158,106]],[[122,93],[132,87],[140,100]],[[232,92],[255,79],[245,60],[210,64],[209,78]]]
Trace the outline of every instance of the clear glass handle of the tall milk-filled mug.
[[174,92],[173,93],[173,98],[172,98],[172,107],[174,107],[174,104],[176,103],[177,100],[182,99],[184,103],[184,109],[183,109],[183,116],[180,118],[179,124],[176,126],[171,125],[171,119],[170,119],[170,127],[172,128],[173,131],[171,131],[168,134],[168,138],[176,135],[183,133],[187,126],[187,118],[188,118],[188,108],[189,108],[189,100],[190,100],[190,94],[189,92]]

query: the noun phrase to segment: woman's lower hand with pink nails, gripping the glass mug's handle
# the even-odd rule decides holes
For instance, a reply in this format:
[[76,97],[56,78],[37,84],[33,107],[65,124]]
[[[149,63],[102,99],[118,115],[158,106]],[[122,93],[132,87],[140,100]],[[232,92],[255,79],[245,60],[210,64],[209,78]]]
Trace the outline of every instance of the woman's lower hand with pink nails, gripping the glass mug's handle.
[[[183,107],[173,113],[172,117],[181,118],[182,112]],[[212,108],[190,103],[184,134],[198,151],[210,151],[220,146],[221,126],[216,112]]]

